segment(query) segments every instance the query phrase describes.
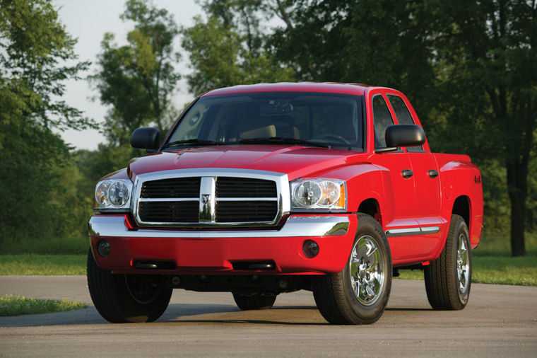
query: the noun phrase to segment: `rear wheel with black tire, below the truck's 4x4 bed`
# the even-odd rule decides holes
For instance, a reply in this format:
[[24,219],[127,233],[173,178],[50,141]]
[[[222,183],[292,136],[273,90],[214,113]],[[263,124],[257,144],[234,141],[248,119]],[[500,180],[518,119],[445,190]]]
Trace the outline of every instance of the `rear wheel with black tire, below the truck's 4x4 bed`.
[[427,299],[435,310],[459,310],[468,303],[472,281],[472,254],[468,227],[452,215],[446,244],[439,258],[425,266]]

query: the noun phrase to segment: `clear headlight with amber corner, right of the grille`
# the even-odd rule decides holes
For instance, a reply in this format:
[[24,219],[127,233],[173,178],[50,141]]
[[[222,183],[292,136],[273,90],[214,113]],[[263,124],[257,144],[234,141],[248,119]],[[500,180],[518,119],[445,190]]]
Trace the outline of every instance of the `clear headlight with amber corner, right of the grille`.
[[300,179],[290,184],[293,209],[346,209],[343,180]]

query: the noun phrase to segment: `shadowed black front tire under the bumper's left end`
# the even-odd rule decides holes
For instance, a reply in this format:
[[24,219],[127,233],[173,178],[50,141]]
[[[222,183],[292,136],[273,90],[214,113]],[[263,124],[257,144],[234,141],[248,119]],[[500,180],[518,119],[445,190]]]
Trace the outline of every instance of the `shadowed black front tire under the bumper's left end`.
[[114,275],[88,253],[88,288],[102,318],[112,323],[153,322],[170,303],[172,287],[162,275]]

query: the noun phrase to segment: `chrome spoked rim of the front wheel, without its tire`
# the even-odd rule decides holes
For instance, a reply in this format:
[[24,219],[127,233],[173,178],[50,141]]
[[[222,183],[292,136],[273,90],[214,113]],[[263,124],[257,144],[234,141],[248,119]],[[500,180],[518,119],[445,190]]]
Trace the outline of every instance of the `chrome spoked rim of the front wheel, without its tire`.
[[368,235],[358,238],[350,254],[350,284],[364,306],[379,299],[384,287],[384,260],[374,238]]

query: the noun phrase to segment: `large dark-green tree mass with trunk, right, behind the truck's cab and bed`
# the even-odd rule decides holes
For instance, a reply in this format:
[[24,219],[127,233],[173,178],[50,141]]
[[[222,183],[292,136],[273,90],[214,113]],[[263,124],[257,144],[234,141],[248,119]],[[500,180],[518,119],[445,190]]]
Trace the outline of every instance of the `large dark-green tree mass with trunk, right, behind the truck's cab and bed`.
[[302,0],[269,44],[298,79],[394,86],[437,149],[500,161],[512,255],[525,255],[529,163],[536,147],[535,0]]

